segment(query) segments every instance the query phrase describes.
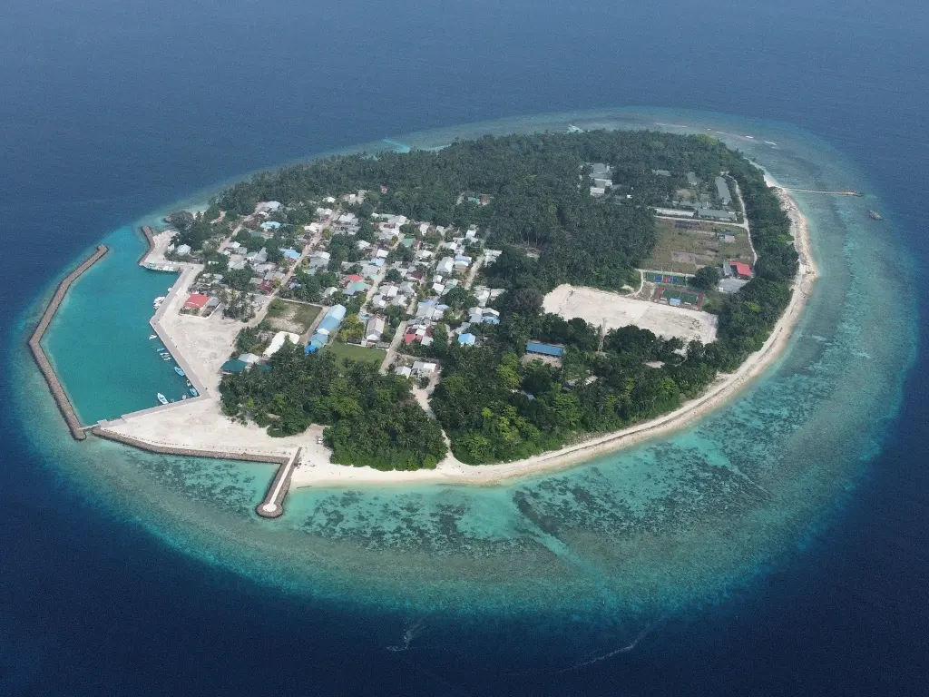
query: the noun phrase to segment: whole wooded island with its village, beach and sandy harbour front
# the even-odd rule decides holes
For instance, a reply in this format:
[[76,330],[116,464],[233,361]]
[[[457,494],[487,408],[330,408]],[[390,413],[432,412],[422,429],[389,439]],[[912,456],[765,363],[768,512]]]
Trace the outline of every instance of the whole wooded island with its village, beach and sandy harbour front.
[[291,486],[492,481],[679,427],[757,375],[816,269],[786,191],[708,136],[457,140],[256,174],[146,229],[190,399],[99,423]]

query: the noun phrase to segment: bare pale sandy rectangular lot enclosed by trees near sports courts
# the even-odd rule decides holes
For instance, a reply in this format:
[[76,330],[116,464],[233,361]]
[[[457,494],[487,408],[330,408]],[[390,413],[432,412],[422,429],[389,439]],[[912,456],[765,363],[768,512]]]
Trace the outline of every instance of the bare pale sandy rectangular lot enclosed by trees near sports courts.
[[672,308],[568,283],[545,296],[543,308],[566,320],[580,317],[592,324],[605,323],[608,329],[635,324],[664,338],[677,336],[685,343],[700,339],[709,344],[716,339],[716,316],[709,312]]

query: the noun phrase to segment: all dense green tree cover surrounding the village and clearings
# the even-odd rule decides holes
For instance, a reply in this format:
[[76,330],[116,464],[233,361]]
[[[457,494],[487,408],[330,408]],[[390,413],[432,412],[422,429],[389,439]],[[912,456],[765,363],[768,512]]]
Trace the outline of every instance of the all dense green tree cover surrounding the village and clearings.
[[[589,195],[589,179],[582,174],[591,162],[612,166],[615,186],[608,196]],[[666,169],[673,176],[657,177],[652,169]],[[635,264],[655,242],[648,206],[667,201],[685,183],[688,171],[707,180],[728,172],[739,183],[759,255],[752,281],[719,302],[719,333],[713,344],[691,342],[685,347],[678,339],[625,327],[609,332],[601,351],[598,328],[542,313],[544,293],[558,283],[608,289],[637,283]],[[473,223],[490,231],[488,246],[504,249],[486,270],[491,284],[507,289],[494,303],[501,323],[472,327],[480,338],[476,348],[437,340],[428,349],[416,349],[443,361],[432,406],[452,450],[464,462],[525,457],[583,434],[666,413],[699,395],[718,371],[731,371],[760,349],[790,300],[797,255],[777,197],[757,168],[703,136],[637,131],[488,137],[455,142],[439,152],[351,155],[257,175],[224,192],[218,203],[244,213],[260,200],[275,199],[292,206],[285,216],[293,215],[295,221],[306,215],[301,202],[358,189],[380,191],[382,185],[387,193],[371,195],[362,215],[376,209],[438,224]],[[463,191],[491,194],[491,202],[458,204]],[[349,255],[346,249],[346,260]],[[308,278],[300,281],[307,282],[307,294],[319,291]],[[710,286],[712,274],[701,274],[697,283]],[[462,293],[451,299],[456,307],[470,302]],[[530,339],[564,346],[563,361],[526,361]],[[318,367],[320,360],[294,357],[278,361],[268,376],[251,375],[253,371],[227,377],[224,404],[230,414],[251,414],[273,432],[295,432],[314,420],[332,424],[327,437],[339,462],[393,467],[386,464],[431,463],[439,456],[436,424],[409,401],[408,393],[397,395],[395,407],[406,410],[403,418],[409,421],[404,425],[423,430],[417,435],[400,427],[397,433],[402,435],[395,441],[383,430],[394,433],[389,429],[395,427],[384,416],[386,407],[382,402],[371,405],[374,396],[368,391],[380,386],[373,374],[357,367],[340,374],[345,382],[340,389],[351,392],[360,410],[342,414],[314,384],[317,371],[330,383],[334,379]],[[271,384],[278,391],[270,391]],[[264,396],[258,399],[259,394]],[[362,426],[360,414],[369,414],[372,422]],[[338,439],[335,433],[341,434]],[[385,445],[394,442],[402,445]]]

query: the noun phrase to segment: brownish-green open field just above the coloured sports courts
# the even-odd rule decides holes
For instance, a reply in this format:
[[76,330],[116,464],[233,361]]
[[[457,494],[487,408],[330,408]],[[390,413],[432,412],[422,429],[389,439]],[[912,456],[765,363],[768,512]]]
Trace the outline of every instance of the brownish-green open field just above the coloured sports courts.
[[[737,225],[696,220],[657,220],[658,242],[643,269],[695,273],[703,266],[720,266],[723,261],[752,263],[748,234]],[[687,226],[687,227],[685,227]],[[733,242],[720,239],[732,235]]]

